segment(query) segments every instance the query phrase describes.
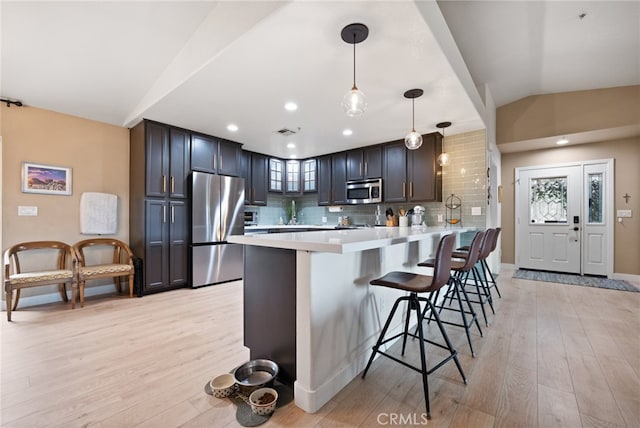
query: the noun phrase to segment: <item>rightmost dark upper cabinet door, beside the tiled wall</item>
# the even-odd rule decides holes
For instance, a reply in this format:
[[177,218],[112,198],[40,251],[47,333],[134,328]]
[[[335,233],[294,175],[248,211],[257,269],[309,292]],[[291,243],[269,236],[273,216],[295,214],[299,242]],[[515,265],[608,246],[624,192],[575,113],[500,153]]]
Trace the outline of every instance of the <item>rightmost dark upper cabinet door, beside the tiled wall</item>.
[[[422,146],[409,151],[407,159],[407,181],[409,201],[442,201],[442,168],[437,154],[439,134],[423,135]],[[440,146],[441,147],[441,146]]]

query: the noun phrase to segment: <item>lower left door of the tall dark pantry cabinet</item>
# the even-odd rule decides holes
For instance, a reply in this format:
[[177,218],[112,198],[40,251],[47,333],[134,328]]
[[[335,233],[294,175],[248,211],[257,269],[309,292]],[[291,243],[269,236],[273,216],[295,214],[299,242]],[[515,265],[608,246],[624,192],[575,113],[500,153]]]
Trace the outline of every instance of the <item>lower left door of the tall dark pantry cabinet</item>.
[[166,287],[169,279],[167,204],[164,200],[147,199],[145,213],[144,291],[152,292]]

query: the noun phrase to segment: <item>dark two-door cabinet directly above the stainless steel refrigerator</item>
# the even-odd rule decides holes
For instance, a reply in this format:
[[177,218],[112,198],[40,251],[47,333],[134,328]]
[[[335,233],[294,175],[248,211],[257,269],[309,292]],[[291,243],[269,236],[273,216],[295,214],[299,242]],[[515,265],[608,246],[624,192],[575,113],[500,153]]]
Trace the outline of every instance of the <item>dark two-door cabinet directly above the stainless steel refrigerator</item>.
[[239,177],[242,146],[233,141],[194,133],[191,136],[191,169]]

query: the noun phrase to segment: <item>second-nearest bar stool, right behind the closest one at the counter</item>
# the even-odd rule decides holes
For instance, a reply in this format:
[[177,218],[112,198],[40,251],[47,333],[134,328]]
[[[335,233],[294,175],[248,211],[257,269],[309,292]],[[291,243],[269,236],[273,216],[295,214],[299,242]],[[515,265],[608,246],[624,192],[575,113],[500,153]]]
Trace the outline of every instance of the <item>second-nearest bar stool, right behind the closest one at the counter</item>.
[[[449,277],[449,281],[448,281],[449,287],[444,294],[444,298],[442,302],[438,304],[438,297],[440,296],[441,290],[437,290],[435,293],[432,292],[431,295],[429,296],[433,302],[433,305],[438,309],[438,314],[441,314],[442,311],[445,309],[448,311],[460,313],[460,316],[462,317],[462,324],[451,322],[451,321],[444,321],[444,320],[441,320],[441,322],[443,324],[449,324],[449,325],[454,325],[454,326],[464,328],[465,333],[467,334],[467,341],[469,342],[469,348],[471,349],[471,355],[473,357],[475,357],[476,354],[475,354],[475,351],[473,350],[473,343],[471,342],[471,331],[470,331],[471,326],[474,323],[476,324],[476,327],[478,328],[478,332],[480,332],[480,336],[482,336],[482,329],[480,328],[480,323],[478,322],[478,317],[476,315],[476,312],[473,310],[473,306],[471,306],[471,301],[469,300],[467,291],[462,285],[462,275],[465,275],[465,274],[469,275],[469,271],[473,269],[476,262],[478,261],[478,255],[480,254],[480,246],[482,244],[482,240],[484,239],[484,235],[485,235],[485,232],[477,232],[475,234],[475,236],[473,237],[473,240],[471,241],[471,245],[469,246],[469,253],[466,259],[453,258],[453,260],[451,260],[452,274]],[[435,259],[429,259],[429,260],[425,260],[424,262],[420,262],[418,263],[418,266],[434,268]],[[460,296],[461,292],[462,292],[462,296]],[[449,305],[446,305],[446,300],[448,297],[451,297],[451,301]],[[456,300],[458,301],[458,306],[459,306],[458,308],[451,307],[453,298],[456,298]],[[463,304],[462,304],[463,298],[464,298],[464,301],[467,303],[468,310],[465,310],[463,307]],[[426,312],[427,312],[427,307],[425,306],[422,313],[423,318],[426,316]],[[467,319],[467,315],[470,315],[469,319]],[[427,322],[427,324],[431,322],[432,318],[433,318],[433,312],[429,315],[429,321]]]

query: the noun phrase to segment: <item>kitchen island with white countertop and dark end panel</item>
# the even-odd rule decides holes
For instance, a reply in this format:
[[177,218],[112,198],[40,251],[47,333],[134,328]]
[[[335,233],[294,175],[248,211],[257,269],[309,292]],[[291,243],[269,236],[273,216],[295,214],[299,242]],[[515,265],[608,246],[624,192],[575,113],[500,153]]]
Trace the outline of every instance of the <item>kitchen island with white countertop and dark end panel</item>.
[[[376,227],[232,236],[245,245],[244,343],[276,361],[295,403],[316,412],[363,369],[401,291],[371,287],[391,270],[430,273],[440,237],[465,228]],[[393,331],[401,328],[401,316]]]

